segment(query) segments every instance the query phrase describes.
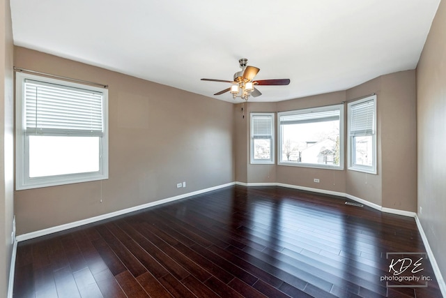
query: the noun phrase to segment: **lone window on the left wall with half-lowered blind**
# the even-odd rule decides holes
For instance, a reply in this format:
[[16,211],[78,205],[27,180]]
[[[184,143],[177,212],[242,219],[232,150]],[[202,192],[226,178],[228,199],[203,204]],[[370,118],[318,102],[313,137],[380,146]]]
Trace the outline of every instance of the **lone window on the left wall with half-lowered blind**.
[[107,89],[16,74],[16,188],[108,178]]

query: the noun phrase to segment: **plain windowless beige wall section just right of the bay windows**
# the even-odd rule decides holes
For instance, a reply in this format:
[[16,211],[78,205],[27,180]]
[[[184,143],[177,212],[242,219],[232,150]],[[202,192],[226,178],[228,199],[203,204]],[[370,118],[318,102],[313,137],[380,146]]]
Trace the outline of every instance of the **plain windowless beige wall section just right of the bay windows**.
[[383,76],[381,115],[383,207],[417,211],[415,70]]

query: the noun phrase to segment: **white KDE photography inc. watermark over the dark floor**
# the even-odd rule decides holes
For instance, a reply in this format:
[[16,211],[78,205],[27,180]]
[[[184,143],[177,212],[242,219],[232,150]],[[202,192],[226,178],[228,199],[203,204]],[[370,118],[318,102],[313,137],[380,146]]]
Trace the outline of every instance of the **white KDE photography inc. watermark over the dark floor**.
[[427,253],[386,253],[387,274],[380,276],[387,288],[427,288],[430,275],[424,271]]

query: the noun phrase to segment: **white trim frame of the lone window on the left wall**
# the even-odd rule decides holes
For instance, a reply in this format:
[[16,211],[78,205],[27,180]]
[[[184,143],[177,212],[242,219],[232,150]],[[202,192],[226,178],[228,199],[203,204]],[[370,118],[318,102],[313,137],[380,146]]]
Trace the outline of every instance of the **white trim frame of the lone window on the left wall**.
[[[60,84],[67,87],[89,89],[103,94],[103,122],[104,131],[102,133],[102,142],[100,143],[100,165],[98,172],[62,174],[47,177],[29,177],[29,142],[24,133],[24,82],[26,79],[38,80],[52,84]],[[40,77],[28,73],[16,73],[15,77],[15,189],[17,191],[31,188],[40,188],[47,186],[57,186],[63,184],[73,184],[86,181],[96,181],[108,179],[108,90],[104,88],[92,87],[74,82],[56,80],[49,77]]]

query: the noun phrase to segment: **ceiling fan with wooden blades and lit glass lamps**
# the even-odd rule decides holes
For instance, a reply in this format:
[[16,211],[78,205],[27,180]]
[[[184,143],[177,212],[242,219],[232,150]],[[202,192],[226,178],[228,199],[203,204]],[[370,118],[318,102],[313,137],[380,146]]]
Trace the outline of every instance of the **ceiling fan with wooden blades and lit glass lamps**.
[[242,98],[243,100],[248,100],[249,96],[261,96],[261,92],[256,89],[255,85],[259,86],[277,86],[277,85],[287,85],[290,83],[289,79],[273,79],[273,80],[254,80],[254,77],[259,73],[259,68],[254,66],[247,66],[248,59],[242,58],[238,60],[240,64],[240,68],[242,70],[234,73],[233,81],[228,80],[215,80],[215,79],[201,79],[202,81],[211,81],[211,82],[224,82],[231,83],[231,87],[226,88],[220,92],[217,92],[214,95],[224,94],[226,92],[231,92],[232,97],[236,99],[237,97]]

